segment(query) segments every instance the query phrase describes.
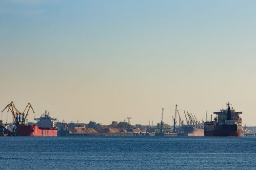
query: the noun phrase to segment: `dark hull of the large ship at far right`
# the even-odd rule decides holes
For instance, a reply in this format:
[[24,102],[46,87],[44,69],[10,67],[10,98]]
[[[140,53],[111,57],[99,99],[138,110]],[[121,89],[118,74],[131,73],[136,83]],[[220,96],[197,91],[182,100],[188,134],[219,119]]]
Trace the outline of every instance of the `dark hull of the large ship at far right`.
[[204,136],[242,136],[242,126],[237,124],[204,124]]

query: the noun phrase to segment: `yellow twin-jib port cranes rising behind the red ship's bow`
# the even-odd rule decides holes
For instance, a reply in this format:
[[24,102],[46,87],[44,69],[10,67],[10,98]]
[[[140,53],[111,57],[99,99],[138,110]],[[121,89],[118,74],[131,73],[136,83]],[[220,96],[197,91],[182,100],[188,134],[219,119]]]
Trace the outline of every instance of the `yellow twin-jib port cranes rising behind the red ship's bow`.
[[16,125],[24,125],[25,121],[27,119],[28,116],[28,112],[31,108],[31,110],[34,112],[34,109],[32,107],[32,105],[30,103],[27,104],[27,106],[25,107],[23,112],[20,112],[19,110],[16,109],[14,102],[10,102],[3,110],[2,112],[8,107],[7,112],[11,111],[12,112],[12,116],[13,119],[16,123]]

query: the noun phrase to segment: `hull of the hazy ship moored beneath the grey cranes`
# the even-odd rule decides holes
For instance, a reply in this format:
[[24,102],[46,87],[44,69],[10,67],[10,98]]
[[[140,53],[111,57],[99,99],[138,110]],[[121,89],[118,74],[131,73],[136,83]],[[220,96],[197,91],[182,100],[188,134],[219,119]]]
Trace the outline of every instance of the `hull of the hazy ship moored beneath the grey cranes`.
[[195,127],[180,127],[177,128],[178,136],[204,136],[204,130]]

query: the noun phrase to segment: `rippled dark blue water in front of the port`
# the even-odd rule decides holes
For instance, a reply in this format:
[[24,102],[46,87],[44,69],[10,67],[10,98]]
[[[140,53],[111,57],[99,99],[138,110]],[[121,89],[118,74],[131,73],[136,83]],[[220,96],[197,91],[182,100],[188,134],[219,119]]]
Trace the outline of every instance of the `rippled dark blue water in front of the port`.
[[256,137],[0,137],[4,170],[256,170]]

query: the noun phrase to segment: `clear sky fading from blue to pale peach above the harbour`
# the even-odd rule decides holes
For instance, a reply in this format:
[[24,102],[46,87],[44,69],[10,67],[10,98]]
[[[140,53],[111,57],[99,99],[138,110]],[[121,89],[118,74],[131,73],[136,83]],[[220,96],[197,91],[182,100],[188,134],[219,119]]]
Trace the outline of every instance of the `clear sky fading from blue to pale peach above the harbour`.
[[[231,102],[256,126],[255,0],[0,0],[0,108],[173,124]],[[10,113],[2,113],[11,122]],[[183,116],[183,114],[182,114]],[[209,116],[208,116],[209,118]],[[182,117],[184,119],[184,117]],[[126,119],[127,121],[127,119]]]

